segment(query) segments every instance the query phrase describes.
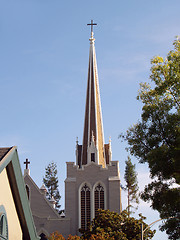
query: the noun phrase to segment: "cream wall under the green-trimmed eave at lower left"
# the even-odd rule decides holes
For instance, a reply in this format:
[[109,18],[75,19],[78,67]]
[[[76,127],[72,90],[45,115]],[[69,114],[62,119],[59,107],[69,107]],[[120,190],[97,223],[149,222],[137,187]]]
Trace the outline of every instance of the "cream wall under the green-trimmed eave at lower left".
[[0,205],[3,205],[6,210],[9,240],[21,240],[21,226],[16,213],[6,169],[0,173]]

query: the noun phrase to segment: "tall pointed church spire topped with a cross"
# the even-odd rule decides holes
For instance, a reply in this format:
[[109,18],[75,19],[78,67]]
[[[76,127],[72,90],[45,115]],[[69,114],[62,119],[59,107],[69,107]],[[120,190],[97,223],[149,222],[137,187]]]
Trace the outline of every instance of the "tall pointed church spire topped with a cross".
[[104,131],[101,112],[101,101],[99,92],[98,71],[96,62],[96,52],[94,46],[93,23],[91,20],[91,38],[89,50],[89,67],[86,93],[86,107],[84,119],[83,144],[77,143],[77,164],[88,164],[91,161],[96,162],[102,167],[111,160],[109,156],[110,144],[104,144]]

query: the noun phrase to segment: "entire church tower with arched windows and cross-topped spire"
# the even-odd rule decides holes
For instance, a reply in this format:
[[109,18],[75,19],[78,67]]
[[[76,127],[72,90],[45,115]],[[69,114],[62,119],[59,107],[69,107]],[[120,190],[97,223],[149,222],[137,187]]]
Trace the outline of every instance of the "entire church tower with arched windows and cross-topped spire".
[[121,212],[119,162],[112,161],[111,141],[104,143],[95,39],[92,30],[84,119],[83,143],[76,142],[76,163],[67,162],[65,213],[70,232],[86,229],[98,209]]

